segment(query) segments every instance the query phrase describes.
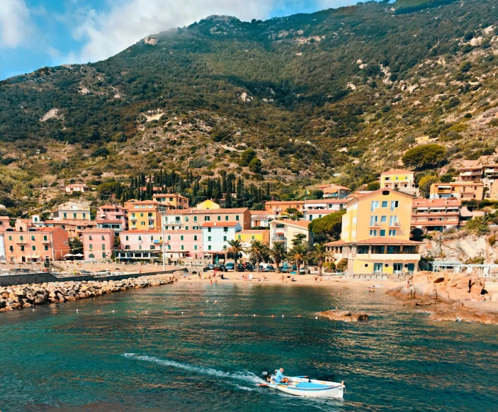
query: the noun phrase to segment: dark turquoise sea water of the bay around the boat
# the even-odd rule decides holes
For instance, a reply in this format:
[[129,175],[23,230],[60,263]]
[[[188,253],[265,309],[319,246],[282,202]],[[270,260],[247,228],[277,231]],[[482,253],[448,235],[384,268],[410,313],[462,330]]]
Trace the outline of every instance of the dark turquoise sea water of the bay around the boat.
[[[0,410],[498,410],[498,327],[433,323],[380,290],[331,291],[182,283],[55,313],[1,313]],[[371,320],[315,319],[334,306],[366,310]],[[277,367],[344,380],[344,401],[256,386],[261,371]]]

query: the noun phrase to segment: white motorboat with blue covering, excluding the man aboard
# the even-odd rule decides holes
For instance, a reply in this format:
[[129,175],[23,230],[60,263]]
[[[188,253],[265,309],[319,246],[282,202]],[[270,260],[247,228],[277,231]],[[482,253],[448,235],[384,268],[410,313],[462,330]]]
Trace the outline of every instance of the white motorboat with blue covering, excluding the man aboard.
[[285,392],[285,394],[295,396],[306,396],[308,398],[339,398],[344,396],[344,384],[337,382],[319,381],[317,379],[307,379],[289,377],[288,384],[278,384],[271,377],[268,384],[273,389]]

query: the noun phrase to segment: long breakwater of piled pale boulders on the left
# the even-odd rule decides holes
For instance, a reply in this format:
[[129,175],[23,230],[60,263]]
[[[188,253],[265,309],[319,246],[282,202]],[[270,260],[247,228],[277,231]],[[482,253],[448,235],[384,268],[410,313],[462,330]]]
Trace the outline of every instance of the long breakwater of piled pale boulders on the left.
[[30,308],[41,304],[62,304],[67,301],[112,294],[127,289],[142,289],[176,282],[174,274],[155,274],[123,280],[69,281],[43,284],[22,284],[0,287],[0,312]]

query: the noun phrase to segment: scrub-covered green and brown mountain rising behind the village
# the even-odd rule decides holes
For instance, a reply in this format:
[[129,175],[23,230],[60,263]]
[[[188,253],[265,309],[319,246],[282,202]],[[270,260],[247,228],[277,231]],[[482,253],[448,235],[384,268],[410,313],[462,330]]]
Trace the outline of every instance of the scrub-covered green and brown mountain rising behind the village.
[[[40,188],[62,179],[166,169],[231,170],[290,198],[317,182],[373,182],[424,136],[446,147],[451,173],[497,146],[497,33],[494,0],[210,16],[108,60],[6,79],[4,194],[43,202]],[[261,172],[241,160],[247,147]]]

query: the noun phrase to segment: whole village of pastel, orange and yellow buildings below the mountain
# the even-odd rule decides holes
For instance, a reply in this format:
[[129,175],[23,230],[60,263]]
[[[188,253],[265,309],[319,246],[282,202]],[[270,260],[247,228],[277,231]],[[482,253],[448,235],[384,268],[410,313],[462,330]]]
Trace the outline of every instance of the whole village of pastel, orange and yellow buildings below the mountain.
[[[50,267],[68,260],[213,267],[226,265],[233,252],[241,264],[254,263],[254,243],[266,250],[281,245],[286,266],[295,262],[295,251],[289,251],[296,245],[312,250],[319,244],[312,221],[341,213],[340,238],[321,243],[320,267],[350,274],[413,274],[425,269],[419,265],[421,235],[457,230],[472,218],[483,218],[485,211],[472,201],[497,200],[497,176],[493,165],[463,167],[455,182],[432,184],[424,199],[414,172],[392,169],[380,174],[379,189],[373,191],[324,184],[319,186],[323,199],[271,200],[257,211],[222,208],[210,199],[192,207],[188,197],[154,187],[152,200],[104,204],[92,219],[89,203],[75,199],[57,206],[45,220],[30,214],[11,226],[9,217],[0,216],[0,267]],[[90,190],[86,184],[64,187],[69,194]],[[316,264],[311,255],[295,263]],[[268,258],[270,253],[257,260]]]

